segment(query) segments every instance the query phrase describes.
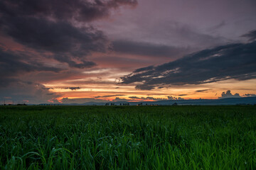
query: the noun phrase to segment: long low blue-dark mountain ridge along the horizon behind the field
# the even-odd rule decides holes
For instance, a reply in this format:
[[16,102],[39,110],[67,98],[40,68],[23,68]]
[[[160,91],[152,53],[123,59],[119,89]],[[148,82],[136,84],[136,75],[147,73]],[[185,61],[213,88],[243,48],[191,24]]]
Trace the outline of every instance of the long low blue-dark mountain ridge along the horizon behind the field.
[[[166,101],[142,101],[142,102],[127,102],[127,101],[114,101],[114,102],[87,102],[87,103],[60,103],[53,105],[68,105],[68,106],[105,106],[106,103],[114,103],[116,106],[120,106],[120,103],[129,103],[130,106],[136,106],[139,103],[142,105],[246,105],[256,104],[256,97],[242,97],[242,98],[221,98],[221,99],[190,99],[190,100],[166,100]],[[41,105],[49,105],[42,103]]]

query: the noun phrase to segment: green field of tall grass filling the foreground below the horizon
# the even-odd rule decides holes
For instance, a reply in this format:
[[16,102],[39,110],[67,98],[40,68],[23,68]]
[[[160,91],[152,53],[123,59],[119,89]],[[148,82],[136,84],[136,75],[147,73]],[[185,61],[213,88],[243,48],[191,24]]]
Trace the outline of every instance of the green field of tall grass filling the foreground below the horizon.
[[256,169],[256,106],[1,106],[0,169]]

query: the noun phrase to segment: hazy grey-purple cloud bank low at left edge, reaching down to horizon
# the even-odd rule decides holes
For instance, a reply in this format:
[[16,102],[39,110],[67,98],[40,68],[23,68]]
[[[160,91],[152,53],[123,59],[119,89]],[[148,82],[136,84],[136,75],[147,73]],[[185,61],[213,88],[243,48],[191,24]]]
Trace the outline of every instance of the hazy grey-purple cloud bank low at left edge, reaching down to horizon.
[[0,100],[8,97],[6,103],[43,103],[59,97],[51,93],[50,88],[33,81],[24,81],[21,77],[31,72],[55,72],[62,69],[49,67],[41,62],[24,56],[23,52],[0,49]]

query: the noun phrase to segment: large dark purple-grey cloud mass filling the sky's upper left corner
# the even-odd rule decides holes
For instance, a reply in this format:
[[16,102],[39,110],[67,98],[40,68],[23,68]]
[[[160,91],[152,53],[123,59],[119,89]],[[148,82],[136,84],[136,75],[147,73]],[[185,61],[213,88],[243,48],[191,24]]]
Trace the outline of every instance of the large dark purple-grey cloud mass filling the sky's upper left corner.
[[107,17],[112,9],[123,5],[136,6],[137,1],[1,1],[0,31],[41,53],[52,52],[47,57],[70,67],[93,67],[95,63],[86,56],[106,52],[109,42],[87,23]]

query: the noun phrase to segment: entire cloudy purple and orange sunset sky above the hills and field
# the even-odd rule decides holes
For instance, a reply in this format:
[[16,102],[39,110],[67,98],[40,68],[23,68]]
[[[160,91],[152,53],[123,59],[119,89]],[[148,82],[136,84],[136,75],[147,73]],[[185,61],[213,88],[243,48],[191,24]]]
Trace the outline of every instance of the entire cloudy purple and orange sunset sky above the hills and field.
[[256,94],[255,0],[1,0],[0,102]]

